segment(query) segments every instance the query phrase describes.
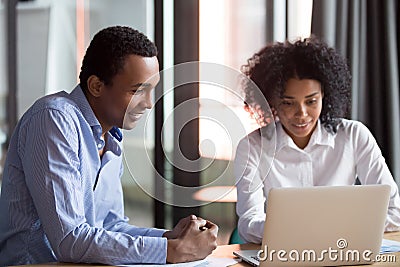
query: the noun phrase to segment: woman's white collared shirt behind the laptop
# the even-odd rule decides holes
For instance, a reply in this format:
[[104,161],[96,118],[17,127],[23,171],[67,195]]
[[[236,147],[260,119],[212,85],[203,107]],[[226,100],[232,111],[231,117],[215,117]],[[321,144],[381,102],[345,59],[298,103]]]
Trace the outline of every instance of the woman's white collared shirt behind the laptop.
[[235,177],[239,234],[247,242],[262,240],[266,199],[272,187],[307,187],[361,184],[391,186],[385,231],[400,230],[400,198],[382,153],[368,128],[345,120],[336,134],[320,122],[308,145],[298,148],[276,123],[243,138],[236,151]]

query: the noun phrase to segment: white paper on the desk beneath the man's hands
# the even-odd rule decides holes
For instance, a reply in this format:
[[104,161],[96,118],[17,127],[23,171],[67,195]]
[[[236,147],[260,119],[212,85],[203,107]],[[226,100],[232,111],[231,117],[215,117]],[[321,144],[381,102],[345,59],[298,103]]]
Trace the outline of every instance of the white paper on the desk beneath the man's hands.
[[230,266],[238,263],[239,261],[232,258],[214,258],[207,257],[204,260],[200,261],[192,261],[192,262],[184,262],[184,263],[175,263],[175,264],[146,264],[146,265],[119,265],[124,267],[149,267],[149,266],[176,266],[176,267],[221,267],[221,266]]

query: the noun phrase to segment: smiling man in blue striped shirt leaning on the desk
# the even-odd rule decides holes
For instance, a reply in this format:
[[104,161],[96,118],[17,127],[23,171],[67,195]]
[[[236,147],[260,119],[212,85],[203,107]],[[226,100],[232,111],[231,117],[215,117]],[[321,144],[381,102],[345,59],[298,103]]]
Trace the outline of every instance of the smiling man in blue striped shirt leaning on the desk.
[[132,129],[151,108],[156,54],[134,29],[103,29],[86,51],[80,85],[23,115],[3,174],[0,265],[185,262],[216,248],[218,227],[194,215],[172,231],[124,216],[118,128]]

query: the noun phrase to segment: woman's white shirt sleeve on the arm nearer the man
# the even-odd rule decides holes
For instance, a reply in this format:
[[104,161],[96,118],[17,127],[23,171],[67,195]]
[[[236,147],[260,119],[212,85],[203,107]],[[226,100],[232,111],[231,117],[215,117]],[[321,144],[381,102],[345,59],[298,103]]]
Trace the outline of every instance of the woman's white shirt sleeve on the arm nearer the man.
[[[242,139],[236,150],[234,172],[238,199],[238,231],[247,242],[261,243],[265,223],[265,198],[260,168],[260,146],[249,136]],[[257,149],[258,148],[258,149]]]

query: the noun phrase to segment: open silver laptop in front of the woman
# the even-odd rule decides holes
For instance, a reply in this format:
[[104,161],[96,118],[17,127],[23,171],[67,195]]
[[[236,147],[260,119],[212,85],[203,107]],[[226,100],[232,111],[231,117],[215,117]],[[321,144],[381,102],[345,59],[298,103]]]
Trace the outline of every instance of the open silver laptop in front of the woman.
[[254,266],[373,264],[389,185],[271,189],[261,250],[235,251]]

